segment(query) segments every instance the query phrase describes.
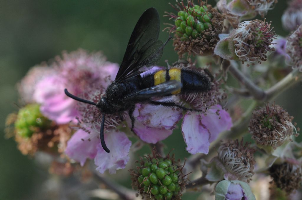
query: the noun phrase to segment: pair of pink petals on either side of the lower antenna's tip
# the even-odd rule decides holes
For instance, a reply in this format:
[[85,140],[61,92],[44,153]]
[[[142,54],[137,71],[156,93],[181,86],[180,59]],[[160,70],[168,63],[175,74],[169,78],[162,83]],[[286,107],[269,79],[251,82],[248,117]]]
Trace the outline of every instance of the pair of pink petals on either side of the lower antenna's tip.
[[96,170],[104,173],[115,173],[118,169],[124,169],[129,161],[131,141],[124,132],[114,129],[105,133],[106,144],[111,147],[110,153],[104,151],[101,146],[99,133],[91,130],[90,133],[79,129],[67,142],[66,155],[79,161],[83,166],[87,158],[94,159],[98,166]]

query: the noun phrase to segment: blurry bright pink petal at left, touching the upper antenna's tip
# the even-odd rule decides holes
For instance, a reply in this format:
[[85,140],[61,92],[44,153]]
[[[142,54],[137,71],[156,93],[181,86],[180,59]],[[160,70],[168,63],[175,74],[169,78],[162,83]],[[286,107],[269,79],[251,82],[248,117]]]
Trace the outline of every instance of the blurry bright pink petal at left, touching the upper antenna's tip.
[[56,123],[76,123],[76,101],[65,95],[64,88],[59,77],[45,77],[36,85],[34,100],[41,104],[41,113]]

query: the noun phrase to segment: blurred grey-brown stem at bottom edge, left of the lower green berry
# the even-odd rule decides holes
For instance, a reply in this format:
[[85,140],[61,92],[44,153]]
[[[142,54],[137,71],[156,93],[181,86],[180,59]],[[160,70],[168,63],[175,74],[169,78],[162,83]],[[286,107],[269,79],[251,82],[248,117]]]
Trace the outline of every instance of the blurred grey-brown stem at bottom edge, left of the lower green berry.
[[108,189],[111,189],[112,191],[114,191],[115,193],[117,193],[117,195],[119,195],[120,199],[123,200],[133,200],[135,199],[135,192],[123,187],[121,185],[119,185],[118,183],[114,183],[111,180],[106,179],[105,177],[103,177],[101,174],[99,174],[98,172],[94,172],[94,178],[103,183],[104,185],[106,185],[106,187]]

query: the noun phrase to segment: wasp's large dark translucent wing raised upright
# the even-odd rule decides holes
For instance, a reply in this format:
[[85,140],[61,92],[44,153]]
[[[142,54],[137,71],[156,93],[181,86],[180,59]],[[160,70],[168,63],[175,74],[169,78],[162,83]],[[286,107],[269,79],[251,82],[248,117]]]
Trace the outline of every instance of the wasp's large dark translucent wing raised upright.
[[123,61],[115,80],[126,80],[156,65],[163,52],[159,36],[159,15],[155,8],[146,10],[138,20],[129,39]]

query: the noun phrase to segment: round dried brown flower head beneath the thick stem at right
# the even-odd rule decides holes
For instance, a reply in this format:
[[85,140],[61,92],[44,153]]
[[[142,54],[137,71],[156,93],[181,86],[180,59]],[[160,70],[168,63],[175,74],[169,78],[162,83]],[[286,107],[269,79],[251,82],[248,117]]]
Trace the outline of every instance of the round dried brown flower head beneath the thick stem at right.
[[258,145],[276,148],[284,143],[299,128],[292,123],[294,117],[279,105],[266,105],[265,108],[255,110],[249,123],[249,132]]

